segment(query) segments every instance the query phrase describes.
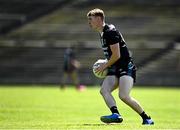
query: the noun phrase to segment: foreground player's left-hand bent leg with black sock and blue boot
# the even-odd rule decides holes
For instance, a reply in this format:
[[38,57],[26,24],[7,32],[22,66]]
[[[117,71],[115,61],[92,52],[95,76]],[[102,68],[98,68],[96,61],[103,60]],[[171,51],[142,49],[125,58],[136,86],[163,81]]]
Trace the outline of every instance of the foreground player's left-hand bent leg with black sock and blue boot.
[[115,76],[107,76],[102,84],[100,93],[108,108],[111,110],[112,115],[102,116],[101,121],[104,123],[120,123],[122,118],[117,110],[116,102],[111,92],[118,86],[118,79]]

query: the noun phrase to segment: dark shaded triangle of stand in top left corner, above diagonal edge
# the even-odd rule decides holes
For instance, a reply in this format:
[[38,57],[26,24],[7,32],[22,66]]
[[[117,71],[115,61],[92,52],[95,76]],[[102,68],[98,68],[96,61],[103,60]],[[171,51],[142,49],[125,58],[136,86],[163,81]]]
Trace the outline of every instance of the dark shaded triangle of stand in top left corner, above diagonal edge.
[[1,0],[0,34],[6,34],[23,24],[64,6],[70,0]]

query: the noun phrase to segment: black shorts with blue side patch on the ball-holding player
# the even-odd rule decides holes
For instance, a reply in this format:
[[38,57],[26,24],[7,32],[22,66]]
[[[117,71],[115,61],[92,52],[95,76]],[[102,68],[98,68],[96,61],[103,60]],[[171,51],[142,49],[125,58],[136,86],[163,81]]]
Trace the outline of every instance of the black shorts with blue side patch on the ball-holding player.
[[128,75],[134,79],[134,82],[136,82],[136,66],[133,64],[133,62],[130,61],[126,67],[118,69],[109,68],[107,75],[115,75],[117,78]]

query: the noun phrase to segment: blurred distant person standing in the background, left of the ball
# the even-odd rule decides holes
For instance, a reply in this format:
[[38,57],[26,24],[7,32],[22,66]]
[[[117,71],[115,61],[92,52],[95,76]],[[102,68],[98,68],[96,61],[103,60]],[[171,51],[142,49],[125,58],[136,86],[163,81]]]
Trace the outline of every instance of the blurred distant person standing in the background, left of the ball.
[[68,47],[64,53],[63,77],[61,79],[61,89],[66,87],[68,79],[71,79],[77,90],[84,90],[85,86],[79,84],[78,69],[80,62],[75,58],[73,47]]

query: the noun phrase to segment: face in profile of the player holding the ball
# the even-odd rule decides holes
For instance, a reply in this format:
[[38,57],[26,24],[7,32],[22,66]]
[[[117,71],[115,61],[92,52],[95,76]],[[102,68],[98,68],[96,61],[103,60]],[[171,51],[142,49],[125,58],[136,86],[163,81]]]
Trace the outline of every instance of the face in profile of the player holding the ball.
[[89,16],[88,17],[88,24],[89,24],[89,26],[92,29],[96,30],[96,31],[98,31],[98,28],[99,28],[99,18],[100,17],[96,17],[96,16]]

